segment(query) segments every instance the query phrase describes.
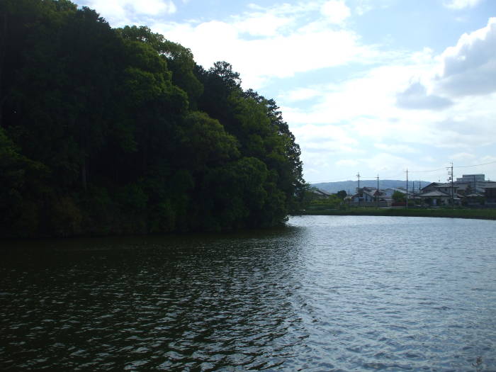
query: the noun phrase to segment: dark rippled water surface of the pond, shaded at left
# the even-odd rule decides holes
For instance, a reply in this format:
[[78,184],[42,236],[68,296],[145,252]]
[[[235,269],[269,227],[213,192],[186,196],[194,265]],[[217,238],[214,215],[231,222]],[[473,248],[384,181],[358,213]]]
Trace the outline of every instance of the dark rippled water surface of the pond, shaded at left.
[[0,243],[0,369],[496,371],[496,222]]

